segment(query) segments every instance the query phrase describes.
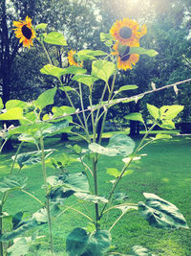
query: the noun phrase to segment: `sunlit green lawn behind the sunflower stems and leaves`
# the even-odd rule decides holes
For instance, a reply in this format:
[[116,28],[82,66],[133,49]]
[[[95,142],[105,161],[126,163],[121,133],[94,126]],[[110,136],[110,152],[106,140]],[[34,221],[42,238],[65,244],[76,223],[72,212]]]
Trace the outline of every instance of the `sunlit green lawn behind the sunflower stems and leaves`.
[[[109,137],[111,133],[105,134]],[[74,140],[71,140],[75,144]],[[86,147],[79,142],[81,146]],[[138,143],[138,140],[137,140]],[[59,142],[59,139],[53,138],[46,141],[46,148],[56,148],[61,151],[68,151]],[[34,150],[25,146],[23,151]],[[126,175],[118,184],[117,191],[128,195],[128,202],[138,202],[144,200],[142,193],[154,193],[160,198],[164,198],[174,203],[180,212],[184,215],[188,225],[191,226],[191,172],[190,172],[190,154],[191,139],[189,137],[175,136],[170,140],[156,141],[145,148],[142,153],[147,156],[138,161],[134,161],[131,166],[133,173]],[[9,174],[11,167],[11,154],[0,155],[0,177]],[[113,177],[106,174],[106,167],[119,169],[122,167],[120,157],[100,156],[98,164],[99,194],[107,196],[111,189],[110,179]],[[81,172],[81,167],[76,164],[70,167],[70,172]],[[14,170],[16,173],[17,170]],[[56,174],[55,170],[48,168],[48,175]],[[39,164],[30,167],[24,167],[21,175],[28,176],[28,192],[44,200],[44,190],[41,189],[43,178],[41,175],[41,166]],[[74,198],[67,200],[67,204],[73,204]],[[20,192],[12,193],[9,198],[5,211],[14,214],[18,211],[28,211],[30,213],[39,209],[39,204]],[[77,206],[79,207],[79,206]],[[82,208],[78,208],[83,210]],[[91,209],[90,209],[91,210]],[[119,211],[114,210],[104,221],[104,228],[109,228],[119,216]],[[63,246],[67,235],[76,226],[86,227],[87,220],[75,212],[62,215],[59,220],[53,224],[53,241],[56,255],[63,254]],[[39,235],[47,235],[47,228],[39,232]],[[135,244],[143,245],[149,248],[152,253],[159,256],[190,256],[191,255],[191,231],[188,230],[163,230],[151,227],[147,221],[144,221],[137,212],[131,212],[122,217],[117,225],[112,229],[114,250],[118,253],[130,253],[131,247]],[[33,249],[37,249],[33,248]],[[35,251],[30,255],[48,255],[46,244],[40,245],[38,253]],[[113,250],[113,251],[114,251]]]

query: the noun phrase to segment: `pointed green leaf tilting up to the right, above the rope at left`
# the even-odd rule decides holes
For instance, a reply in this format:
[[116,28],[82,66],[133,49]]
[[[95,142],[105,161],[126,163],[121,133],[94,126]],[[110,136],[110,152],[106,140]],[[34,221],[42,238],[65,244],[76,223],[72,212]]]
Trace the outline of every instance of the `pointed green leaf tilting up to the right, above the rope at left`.
[[38,99],[34,102],[35,105],[37,105],[40,110],[42,110],[47,105],[53,105],[53,98],[56,93],[56,86],[53,87],[53,89],[49,89],[44,91]]

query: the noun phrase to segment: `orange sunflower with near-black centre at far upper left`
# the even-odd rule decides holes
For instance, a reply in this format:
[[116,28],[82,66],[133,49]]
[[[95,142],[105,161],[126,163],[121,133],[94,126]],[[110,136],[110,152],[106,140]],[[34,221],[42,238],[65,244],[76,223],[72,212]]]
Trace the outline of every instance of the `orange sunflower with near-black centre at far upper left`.
[[23,43],[23,46],[29,47],[33,45],[32,39],[35,37],[34,30],[32,29],[32,19],[27,16],[25,21],[13,21],[13,25],[16,29],[13,29],[15,36],[20,38],[19,42]]

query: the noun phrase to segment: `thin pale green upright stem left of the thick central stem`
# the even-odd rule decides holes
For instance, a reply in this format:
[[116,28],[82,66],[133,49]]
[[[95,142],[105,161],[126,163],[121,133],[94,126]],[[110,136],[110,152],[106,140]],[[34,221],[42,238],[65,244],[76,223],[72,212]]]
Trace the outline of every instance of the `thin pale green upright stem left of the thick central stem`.
[[48,215],[48,224],[49,224],[49,234],[50,234],[50,243],[51,243],[51,252],[53,255],[53,230],[52,230],[52,220],[51,220],[51,210],[50,210],[50,201],[48,197],[48,188],[47,188],[47,173],[46,173],[46,165],[45,165],[45,151],[44,151],[44,141],[43,137],[40,137],[40,147],[42,151],[42,172],[44,177],[44,184],[46,187],[46,208],[47,208],[47,215]]

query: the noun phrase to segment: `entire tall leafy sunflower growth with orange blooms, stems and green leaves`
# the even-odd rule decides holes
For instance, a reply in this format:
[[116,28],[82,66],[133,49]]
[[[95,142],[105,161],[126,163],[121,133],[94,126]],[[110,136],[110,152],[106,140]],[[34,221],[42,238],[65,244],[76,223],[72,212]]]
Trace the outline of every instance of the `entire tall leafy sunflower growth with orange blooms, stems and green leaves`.
[[[138,88],[137,85],[123,85],[117,91],[115,82],[118,70],[132,69],[138,62],[140,55],[145,54],[150,57],[156,56],[155,50],[143,49],[139,46],[139,39],[146,34],[145,25],[139,26],[138,22],[128,18],[118,20],[108,34],[100,34],[100,40],[108,46],[108,52],[101,50],[81,50],[76,52],[70,50],[66,54],[69,65],[60,68],[53,65],[47,45],[66,47],[67,42],[64,35],[59,32],[47,34],[47,24],[32,26],[32,19],[26,17],[25,21],[14,21],[16,27],[15,36],[20,38],[20,43],[24,47],[30,48],[33,40],[42,46],[48,63],[43,66],[40,72],[44,75],[56,78],[57,85],[44,91],[35,101],[27,103],[19,100],[11,100],[3,105],[0,100],[0,120],[17,120],[18,127],[4,128],[1,136],[6,141],[12,135],[17,136],[20,145],[15,155],[12,156],[10,175],[0,181],[0,251],[1,255],[28,255],[30,245],[41,244],[46,239],[38,236],[37,233],[26,236],[26,232],[32,229],[41,230],[44,226],[49,227],[49,248],[52,255],[53,248],[53,221],[62,220],[63,214],[70,214],[70,210],[80,214],[87,219],[87,226],[75,227],[66,239],[66,253],[68,255],[95,255],[101,256],[109,253],[115,255],[112,246],[111,231],[120,221],[123,215],[130,211],[139,212],[153,226],[161,228],[188,228],[184,217],[179,209],[172,203],[159,198],[151,193],[144,193],[145,202],[130,203],[126,200],[126,195],[117,193],[117,185],[125,175],[130,175],[129,166],[143,156],[140,153],[145,146],[155,140],[169,138],[169,135],[159,134],[155,138],[149,138],[150,131],[159,126],[160,128],[175,128],[173,119],[183,109],[182,105],[164,105],[158,108],[155,105],[147,105],[148,111],[153,118],[153,126],[147,128],[140,113],[126,115],[127,120],[141,122],[145,127],[145,135],[136,147],[134,140],[124,134],[116,134],[109,140],[107,146],[102,144],[103,130],[108,111],[112,105],[138,101],[141,97],[136,95],[130,98],[117,98],[120,91],[128,91]],[[43,33],[41,33],[43,31]],[[86,69],[86,62],[92,63],[90,72]],[[71,84],[63,83],[63,77],[70,75]],[[96,81],[104,82],[101,97],[97,105],[93,105],[94,88]],[[88,93],[89,107],[84,107],[83,88]],[[57,90],[65,92],[70,105],[55,106],[54,96]],[[72,93],[79,99],[79,105],[74,105]],[[107,100],[105,100],[107,95]],[[51,112],[46,111],[47,105],[53,105]],[[74,121],[74,116],[75,120]],[[101,121],[101,122],[100,122]],[[98,124],[101,123],[100,132],[97,135]],[[90,126],[91,124],[91,126]],[[83,132],[76,131],[79,128]],[[47,137],[58,133],[67,132],[84,139],[88,147],[82,149],[79,145],[70,147],[71,154],[63,152],[54,153],[54,149],[45,150],[44,141]],[[36,146],[36,151],[21,153],[23,144],[32,143]],[[3,147],[3,146],[2,146]],[[111,157],[120,156],[123,167],[108,168],[107,173],[113,176],[110,181],[111,187],[106,194],[99,192],[99,172],[98,162],[100,155]],[[69,172],[68,166],[77,163],[83,172]],[[42,188],[45,191],[43,200],[37,195],[33,195],[26,189],[27,178],[19,175],[25,165],[41,163],[44,183]],[[15,171],[15,164],[19,166],[19,172]],[[53,175],[47,175],[47,165],[52,167]],[[14,191],[20,191],[26,197],[32,197],[39,203],[39,209],[32,216],[25,216],[20,211],[14,216],[4,211],[5,202]],[[67,204],[68,198],[73,197],[73,205]],[[117,203],[119,199],[120,204]],[[85,212],[79,209],[82,205]],[[88,206],[89,205],[89,206]],[[22,207],[22,204],[21,204]],[[108,213],[119,210],[117,220],[107,225]],[[66,218],[66,217],[65,217]],[[4,228],[4,226],[9,228]],[[110,223],[110,222],[109,222]],[[64,249],[63,249],[64,251]],[[139,245],[132,248],[131,255],[144,255],[151,253]],[[64,252],[63,252],[64,253]],[[116,253],[117,254],[117,253]],[[123,254],[125,255],[125,254]]]

